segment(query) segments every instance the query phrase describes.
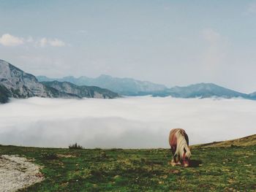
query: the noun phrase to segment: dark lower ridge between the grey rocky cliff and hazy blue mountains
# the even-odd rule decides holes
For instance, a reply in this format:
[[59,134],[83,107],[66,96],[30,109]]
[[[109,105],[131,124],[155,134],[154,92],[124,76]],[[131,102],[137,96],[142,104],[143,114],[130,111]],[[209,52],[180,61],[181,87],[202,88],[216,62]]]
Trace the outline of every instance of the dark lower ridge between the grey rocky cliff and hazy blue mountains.
[[99,88],[95,86],[78,86],[71,82],[59,82],[59,81],[51,81],[51,82],[42,82],[43,85],[47,87],[54,88],[58,91],[62,91],[65,93],[72,93],[76,96],[89,97],[89,98],[102,98],[102,99],[113,99],[118,97],[118,93],[114,93],[109,91],[108,89]]

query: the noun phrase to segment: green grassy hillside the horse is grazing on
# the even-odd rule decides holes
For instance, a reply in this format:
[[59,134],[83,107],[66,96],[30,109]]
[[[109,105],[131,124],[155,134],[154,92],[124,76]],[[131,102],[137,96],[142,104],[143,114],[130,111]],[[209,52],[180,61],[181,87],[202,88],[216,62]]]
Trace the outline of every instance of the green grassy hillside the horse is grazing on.
[[0,146],[0,155],[24,155],[43,166],[45,180],[23,191],[255,191],[255,135],[246,138],[192,147],[187,169],[170,166],[168,149]]

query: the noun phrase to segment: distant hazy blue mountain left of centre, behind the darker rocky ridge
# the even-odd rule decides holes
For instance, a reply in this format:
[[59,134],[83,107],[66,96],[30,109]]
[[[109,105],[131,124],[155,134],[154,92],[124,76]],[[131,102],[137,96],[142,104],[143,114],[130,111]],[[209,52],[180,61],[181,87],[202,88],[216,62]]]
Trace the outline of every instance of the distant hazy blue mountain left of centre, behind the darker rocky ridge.
[[38,76],[37,79],[42,81],[60,81],[60,82],[72,82],[75,85],[89,85],[98,86],[100,88],[107,88],[116,93],[120,93],[125,96],[139,96],[147,95],[148,93],[155,91],[164,91],[167,89],[165,85],[155,84],[148,81],[134,80],[132,78],[118,78],[111,77],[109,75],[102,74],[97,78],[89,77],[63,77],[63,78],[48,78],[45,76]]

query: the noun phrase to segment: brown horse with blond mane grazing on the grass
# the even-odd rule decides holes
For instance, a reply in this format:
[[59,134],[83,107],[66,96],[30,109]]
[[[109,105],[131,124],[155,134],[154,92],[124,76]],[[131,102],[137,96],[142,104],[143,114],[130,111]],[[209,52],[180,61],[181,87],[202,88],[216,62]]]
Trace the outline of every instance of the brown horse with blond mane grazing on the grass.
[[189,166],[191,152],[189,149],[189,137],[182,128],[173,128],[169,135],[170,149],[173,153],[171,165],[183,164],[184,167]]

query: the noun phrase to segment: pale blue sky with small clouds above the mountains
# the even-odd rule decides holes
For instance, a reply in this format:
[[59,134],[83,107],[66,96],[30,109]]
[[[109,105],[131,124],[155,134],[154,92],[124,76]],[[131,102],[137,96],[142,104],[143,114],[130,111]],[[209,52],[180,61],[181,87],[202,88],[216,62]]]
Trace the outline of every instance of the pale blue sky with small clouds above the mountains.
[[0,58],[34,75],[256,91],[256,1],[0,0],[0,26]]

